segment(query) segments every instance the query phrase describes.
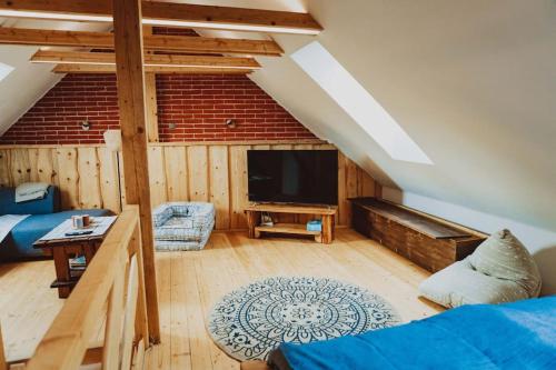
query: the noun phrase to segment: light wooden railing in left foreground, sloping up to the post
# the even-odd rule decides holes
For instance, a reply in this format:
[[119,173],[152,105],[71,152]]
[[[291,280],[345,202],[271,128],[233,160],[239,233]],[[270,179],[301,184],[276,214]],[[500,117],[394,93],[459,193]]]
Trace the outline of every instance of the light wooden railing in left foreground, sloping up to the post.
[[[137,206],[128,206],[39,343],[27,368],[142,368],[149,330]],[[103,340],[93,344],[106,321]]]

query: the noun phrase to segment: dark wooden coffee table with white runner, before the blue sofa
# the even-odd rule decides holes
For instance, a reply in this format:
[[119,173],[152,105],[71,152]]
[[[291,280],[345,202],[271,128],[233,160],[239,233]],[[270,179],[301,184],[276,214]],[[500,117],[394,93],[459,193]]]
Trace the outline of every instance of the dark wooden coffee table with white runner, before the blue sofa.
[[[46,249],[52,253],[56,280],[50,284],[50,288],[58,288],[59,298],[68,298],[116,218],[116,216],[92,218],[91,226],[82,229],[91,230],[92,233],[79,237],[66,236],[68,231],[76,231],[71,228],[71,220],[66,220],[33,243],[34,248]],[[85,267],[71,268],[70,259],[78,256],[85,256]]]

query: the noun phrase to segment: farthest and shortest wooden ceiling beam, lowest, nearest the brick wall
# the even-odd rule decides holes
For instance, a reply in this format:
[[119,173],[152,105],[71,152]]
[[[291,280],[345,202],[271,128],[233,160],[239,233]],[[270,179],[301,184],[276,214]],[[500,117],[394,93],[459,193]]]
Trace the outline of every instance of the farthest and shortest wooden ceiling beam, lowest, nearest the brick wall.
[[[54,73],[116,73],[113,64],[58,64],[52,69]],[[232,68],[200,68],[200,67],[162,67],[145,66],[146,73],[156,74],[247,74],[249,69]]]

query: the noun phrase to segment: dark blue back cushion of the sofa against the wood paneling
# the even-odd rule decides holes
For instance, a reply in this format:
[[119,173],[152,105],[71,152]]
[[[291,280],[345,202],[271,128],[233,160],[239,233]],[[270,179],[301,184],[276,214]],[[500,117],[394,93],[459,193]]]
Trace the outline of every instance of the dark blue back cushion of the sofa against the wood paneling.
[[48,214],[60,211],[60,191],[50,186],[43,199],[16,203],[16,188],[0,189],[1,214]]

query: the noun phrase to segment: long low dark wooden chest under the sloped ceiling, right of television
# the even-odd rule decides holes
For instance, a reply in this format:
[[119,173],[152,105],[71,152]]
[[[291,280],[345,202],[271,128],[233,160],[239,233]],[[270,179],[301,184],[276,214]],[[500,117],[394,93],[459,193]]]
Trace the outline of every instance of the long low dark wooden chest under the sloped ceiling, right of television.
[[350,201],[355,230],[431,272],[469,256],[486,239],[376,198]]

